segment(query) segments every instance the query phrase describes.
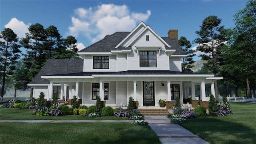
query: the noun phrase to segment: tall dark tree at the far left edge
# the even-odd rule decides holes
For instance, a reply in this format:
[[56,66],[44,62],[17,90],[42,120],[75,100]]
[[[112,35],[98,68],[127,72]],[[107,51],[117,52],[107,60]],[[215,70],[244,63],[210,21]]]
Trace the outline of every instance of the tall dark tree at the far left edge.
[[2,88],[0,96],[4,96],[5,78],[6,75],[12,75],[15,70],[15,62],[20,58],[20,45],[17,44],[17,34],[10,28],[5,28],[0,34],[0,69]]

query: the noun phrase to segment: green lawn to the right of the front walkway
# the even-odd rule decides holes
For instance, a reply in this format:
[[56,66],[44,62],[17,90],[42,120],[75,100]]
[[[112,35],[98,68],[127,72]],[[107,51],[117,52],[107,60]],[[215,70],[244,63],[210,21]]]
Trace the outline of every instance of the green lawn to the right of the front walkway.
[[233,114],[199,117],[181,124],[211,144],[256,143],[256,104],[230,102]]

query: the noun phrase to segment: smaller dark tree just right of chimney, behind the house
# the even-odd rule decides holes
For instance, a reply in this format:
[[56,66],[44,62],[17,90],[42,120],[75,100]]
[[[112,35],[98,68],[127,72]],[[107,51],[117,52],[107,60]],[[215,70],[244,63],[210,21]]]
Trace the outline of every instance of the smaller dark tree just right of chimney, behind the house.
[[195,50],[189,49],[192,45],[190,41],[187,40],[184,36],[180,37],[178,43],[182,48],[183,52],[188,55],[186,58],[182,58],[182,71],[192,72],[190,68],[192,68],[192,64],[195,62],[193,60],[193,56],[196,56],[196,54],[194,54]]

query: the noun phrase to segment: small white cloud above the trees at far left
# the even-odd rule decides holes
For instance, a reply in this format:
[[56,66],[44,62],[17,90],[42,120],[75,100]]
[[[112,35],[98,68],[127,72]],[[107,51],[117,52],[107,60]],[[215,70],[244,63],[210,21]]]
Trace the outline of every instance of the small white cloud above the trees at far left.
[[23,21],[18,20],[17,18],[12,18],[8,24],[4,25],[5,28],[10,28],[17,34],[18,38],[26,37],[25,33],[28,33],[28,27],[31,24],[25,24]]

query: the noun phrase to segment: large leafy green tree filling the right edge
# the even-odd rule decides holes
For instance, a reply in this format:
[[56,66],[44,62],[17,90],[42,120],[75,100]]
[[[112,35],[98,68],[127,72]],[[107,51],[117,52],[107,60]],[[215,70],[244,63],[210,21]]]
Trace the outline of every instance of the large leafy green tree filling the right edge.
[[[256,76],[256,1],[249,0],[243,10],[234,15],[236,27],[233,29],[230,47],[226,49],[225,56],[229,58],[226,69],[234,79],[246,84],[247,96],[251,97],[250,87],[255,90]],[[243,85],[243,84],[241,84]]]

